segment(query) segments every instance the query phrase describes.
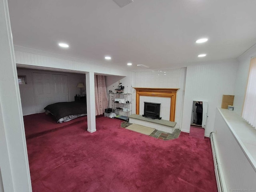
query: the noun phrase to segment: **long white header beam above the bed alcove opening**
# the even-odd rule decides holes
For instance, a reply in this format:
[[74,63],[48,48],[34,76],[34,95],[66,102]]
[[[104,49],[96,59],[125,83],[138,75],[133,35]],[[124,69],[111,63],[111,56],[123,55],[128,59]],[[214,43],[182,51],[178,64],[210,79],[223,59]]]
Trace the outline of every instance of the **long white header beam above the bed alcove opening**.
[[111,68],[111,66],[100,65],[95,62],[88,62],[76,58],[60,56],[49,52],[42,52],[34,49],[15,46],[15,59],[18,66],[28,68],[39,68],[53,71],[65,72],[94,72],[98,74],[126,76],[129,74],[121,67]]

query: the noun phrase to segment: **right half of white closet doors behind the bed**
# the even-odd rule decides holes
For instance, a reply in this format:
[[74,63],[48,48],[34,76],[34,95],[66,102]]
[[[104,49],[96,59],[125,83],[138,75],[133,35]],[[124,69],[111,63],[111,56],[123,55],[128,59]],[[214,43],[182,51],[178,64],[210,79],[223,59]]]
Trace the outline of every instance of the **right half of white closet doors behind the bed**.
[[53,75],[54,102],[68,102],[68,76]]

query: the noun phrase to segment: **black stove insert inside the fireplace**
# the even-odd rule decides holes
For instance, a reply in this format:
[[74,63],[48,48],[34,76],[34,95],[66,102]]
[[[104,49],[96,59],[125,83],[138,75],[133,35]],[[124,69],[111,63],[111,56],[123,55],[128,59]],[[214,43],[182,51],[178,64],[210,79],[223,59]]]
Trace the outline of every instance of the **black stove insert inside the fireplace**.
[[144,102],[144,114],[143,117],[152,119],[162,119],[160,117],[160,103]]

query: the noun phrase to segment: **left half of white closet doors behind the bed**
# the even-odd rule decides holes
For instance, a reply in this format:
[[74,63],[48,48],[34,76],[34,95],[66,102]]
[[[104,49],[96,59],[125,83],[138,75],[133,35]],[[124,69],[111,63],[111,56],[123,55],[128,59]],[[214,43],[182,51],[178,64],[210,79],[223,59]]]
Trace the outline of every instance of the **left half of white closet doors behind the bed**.
[[42,113],[44,108],[54,100],[52,74],[33,73],[33,87],[36,112]]

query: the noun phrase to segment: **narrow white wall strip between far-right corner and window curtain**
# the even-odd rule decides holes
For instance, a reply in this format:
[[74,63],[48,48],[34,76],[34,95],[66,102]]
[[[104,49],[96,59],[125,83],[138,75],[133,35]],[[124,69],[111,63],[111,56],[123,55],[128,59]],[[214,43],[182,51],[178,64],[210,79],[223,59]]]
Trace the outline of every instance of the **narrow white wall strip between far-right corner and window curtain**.
[[242,116],[242,108],[247,88],[251,57],[256,56],[256,45],[238,58],[238,70],[235,83],[234,112]]

